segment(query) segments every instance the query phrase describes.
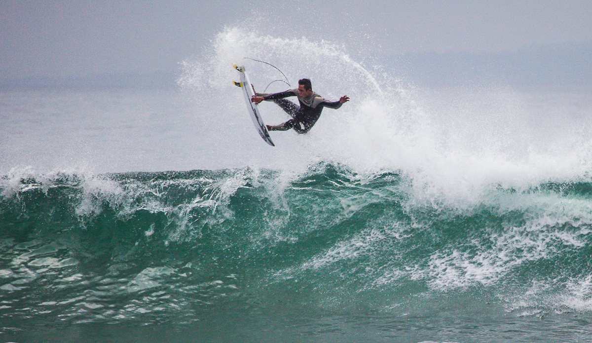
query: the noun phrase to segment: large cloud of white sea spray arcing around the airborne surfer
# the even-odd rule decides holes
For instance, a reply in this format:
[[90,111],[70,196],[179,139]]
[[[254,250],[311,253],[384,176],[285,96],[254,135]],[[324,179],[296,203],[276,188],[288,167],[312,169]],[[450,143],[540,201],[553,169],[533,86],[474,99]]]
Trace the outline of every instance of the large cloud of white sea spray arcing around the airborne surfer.
[[[237,76],[231,65],[246,65],[256,88],[281,75],[244,57],[272,62],[294,84],[310,77],[313,89],[330,100],[349,95],[352,101],[337,111],[323,111],[306,135],[272,133],[278,146],[263,152],[248,117],[240,116],[244,105],[231,85]],[[418,201],[474,204],[492,187],[523,190],[585,178],[590,171],[588,133],[573,130],[589,125],[585,117],[560,123],[553,113],[530,107],[525,94],[503,86],[424,91],[405,86],[397,70],[371,70],[352,60],[345,47],[327,41],[227,27],[202,57],[184,62],[178,82],[200,103],[204,127],[216,128],[202,132],[204,139],[216,140],[220,130],[234,131],[232,142],[240,140],[257,151],[244,152],[247,164],[303,170],[325,161],[357,172],[401,172],[413,180]],[[271,87],[282,91],[287,86]],[[287,119],[274,104],[260,107],[267,123]]]

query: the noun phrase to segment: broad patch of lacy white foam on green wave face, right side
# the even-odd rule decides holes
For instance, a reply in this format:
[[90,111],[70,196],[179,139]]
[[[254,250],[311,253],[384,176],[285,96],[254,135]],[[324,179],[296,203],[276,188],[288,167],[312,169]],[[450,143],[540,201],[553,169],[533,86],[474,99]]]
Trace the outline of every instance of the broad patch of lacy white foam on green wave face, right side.
[[435,252],[425,275],[436,288],[496,284],[528,261],[552,260],[566,249],[584,247],[590,226],[573,224],[559,213],[559,218],[548,214],[522,226],[506,226],[490,234],[491,246],[474,241]]

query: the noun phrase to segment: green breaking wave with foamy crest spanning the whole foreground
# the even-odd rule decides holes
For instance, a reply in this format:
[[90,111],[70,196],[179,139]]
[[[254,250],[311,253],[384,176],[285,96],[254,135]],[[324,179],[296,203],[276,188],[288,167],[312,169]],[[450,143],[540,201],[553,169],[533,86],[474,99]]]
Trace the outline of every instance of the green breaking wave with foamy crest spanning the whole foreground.
[[332,164],[0,181],[7,337],[36,338],[23,322],[82,325],[79,341],[155,323],[220,341],[282,339],[273,325],[297,341],[591,333],[589,181],[497,185],[462,206]]

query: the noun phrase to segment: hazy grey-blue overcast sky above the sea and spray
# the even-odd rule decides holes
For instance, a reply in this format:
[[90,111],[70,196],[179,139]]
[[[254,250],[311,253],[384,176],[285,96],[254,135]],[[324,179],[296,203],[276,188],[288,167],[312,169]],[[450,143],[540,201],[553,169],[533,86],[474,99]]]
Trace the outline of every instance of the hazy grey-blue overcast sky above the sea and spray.
[[592,1],[0,2],[0,79],[174,72],[224,25],[382,55],[592,43]]

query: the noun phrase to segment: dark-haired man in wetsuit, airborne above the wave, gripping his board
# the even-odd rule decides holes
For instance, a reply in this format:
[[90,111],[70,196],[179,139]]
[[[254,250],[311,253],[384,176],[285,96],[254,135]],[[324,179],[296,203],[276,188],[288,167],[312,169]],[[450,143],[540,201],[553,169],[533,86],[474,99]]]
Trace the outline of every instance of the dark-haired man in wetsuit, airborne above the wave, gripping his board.
[[[300,107],[294,102],[286,100],[287,97],[298,97]],[[349,101],[349,97],[343,96],[339,101],[330,102],[321,98],[313,92],[313,86],[309,79],[298,80],[298,88],[274,94],[256,93],[251,98],[252,102],[259,104],[263,100],[274,101],[282,110],[286,111],[292,118],[283,124],[276,126],[268,125],[269,131],[286,131],[294,129],[297,133],[307,133],[321,116],[323,107],[337,109]]]

